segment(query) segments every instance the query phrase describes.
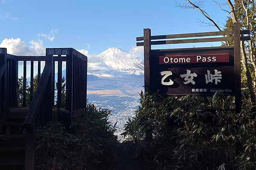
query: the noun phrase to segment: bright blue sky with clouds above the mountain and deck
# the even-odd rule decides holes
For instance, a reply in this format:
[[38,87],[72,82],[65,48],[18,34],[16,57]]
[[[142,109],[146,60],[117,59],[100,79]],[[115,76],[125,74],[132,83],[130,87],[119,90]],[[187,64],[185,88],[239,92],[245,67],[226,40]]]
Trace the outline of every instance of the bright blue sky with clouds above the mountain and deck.
[[[208,21],[197,9],[175,5],[175,0],[0,0],[0,47],[15,55],[64,47],[95,55],[111,47],[136,51],[143,28],[152,35],[218,31],[198,23]],[[227,12],[212,0],[205,0],[203,9],[225,23]]]

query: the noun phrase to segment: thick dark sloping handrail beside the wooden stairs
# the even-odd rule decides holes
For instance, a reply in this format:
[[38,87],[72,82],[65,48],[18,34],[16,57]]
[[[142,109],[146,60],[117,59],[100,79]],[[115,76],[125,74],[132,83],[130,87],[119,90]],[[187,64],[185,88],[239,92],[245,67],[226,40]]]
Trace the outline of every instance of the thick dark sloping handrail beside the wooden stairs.
[[51,75],[51,67],[52,66],[50,64],[46,65],[44,67],[44,71],[43,71],[42,76],[41,76],[41,78],[38,82],[38,87],[35,91],[35,95],[32,99],[31,104],[30,104],[29,111],[26,114],[26,118],[23,122],[23,125],[26,128],[32,128],[32,127],[35,126],[35,118],[37,116],[39,107],[41,105],[41,101],[42,101],[43,96],[44,96],[44,92],[45,92],[46,87],[47,87],[48,80],[49,80],[50,75]]

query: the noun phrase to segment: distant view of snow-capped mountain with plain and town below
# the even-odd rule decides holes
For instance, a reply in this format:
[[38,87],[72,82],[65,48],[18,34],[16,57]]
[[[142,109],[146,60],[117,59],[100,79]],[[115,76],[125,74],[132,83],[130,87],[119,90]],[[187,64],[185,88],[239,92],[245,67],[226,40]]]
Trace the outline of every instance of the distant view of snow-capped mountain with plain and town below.
[[112,111],[109,120],[117,122],[117,135],[121,139],[125,122],[140,105],[143,59],[121,48],[108,48],[99,55],[88,56],[87,68],[88,102]]

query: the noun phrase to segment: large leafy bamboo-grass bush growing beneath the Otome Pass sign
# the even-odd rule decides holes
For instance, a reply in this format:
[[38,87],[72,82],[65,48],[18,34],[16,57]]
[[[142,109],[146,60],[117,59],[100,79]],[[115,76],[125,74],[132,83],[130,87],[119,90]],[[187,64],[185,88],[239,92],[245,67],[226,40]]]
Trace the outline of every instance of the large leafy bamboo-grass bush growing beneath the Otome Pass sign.
[[234,98],[219,92],[166,98],[141,92],[122,135],[137,143],[135,157],[160,169],[256,169],[255,113],[243,95],[237,114]]

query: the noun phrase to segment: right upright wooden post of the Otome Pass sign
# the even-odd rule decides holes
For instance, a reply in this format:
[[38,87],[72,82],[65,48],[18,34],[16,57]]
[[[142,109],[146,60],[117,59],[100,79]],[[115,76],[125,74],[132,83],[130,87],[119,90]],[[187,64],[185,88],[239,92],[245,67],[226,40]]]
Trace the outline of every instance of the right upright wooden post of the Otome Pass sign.
[[240,23],[234,23],[234,66],[235,66],[235,105],[236,113],[241,112],[241,51]]

